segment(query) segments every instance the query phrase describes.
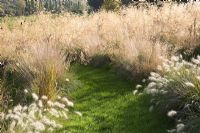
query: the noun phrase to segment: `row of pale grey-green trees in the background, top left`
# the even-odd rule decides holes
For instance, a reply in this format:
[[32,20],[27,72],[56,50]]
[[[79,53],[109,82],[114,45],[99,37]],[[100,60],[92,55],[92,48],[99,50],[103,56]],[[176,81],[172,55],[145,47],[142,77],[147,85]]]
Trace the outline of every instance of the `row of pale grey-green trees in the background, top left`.
[[83,13],[87,9],[87,0],[1,0],[0,16],[30,15],[39,11],[60,13],[71,11]]

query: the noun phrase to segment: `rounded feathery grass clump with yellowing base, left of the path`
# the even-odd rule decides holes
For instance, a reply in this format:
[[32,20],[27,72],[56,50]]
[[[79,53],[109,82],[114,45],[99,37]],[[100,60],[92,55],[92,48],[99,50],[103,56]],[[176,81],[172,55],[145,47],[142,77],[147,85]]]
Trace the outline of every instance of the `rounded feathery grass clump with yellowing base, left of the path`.
[[50,44],[32,45],[21,53],[16,63],[19,76],[25,77],[28,85],[39,96],[55,98],[58,80],[67,68],[67,61],[61,50]]

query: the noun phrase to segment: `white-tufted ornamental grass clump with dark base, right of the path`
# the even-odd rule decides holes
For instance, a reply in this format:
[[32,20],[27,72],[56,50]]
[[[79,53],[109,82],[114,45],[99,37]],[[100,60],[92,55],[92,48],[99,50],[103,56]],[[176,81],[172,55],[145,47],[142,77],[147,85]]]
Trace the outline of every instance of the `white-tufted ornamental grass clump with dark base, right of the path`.
[[151,73],[145,89],[153,96],[152,106],[176,120],[177,128],[173,131],[198,129],[192,121],[200,119],[200,56],[192,62],[173,56],[158,68],[160,73]]

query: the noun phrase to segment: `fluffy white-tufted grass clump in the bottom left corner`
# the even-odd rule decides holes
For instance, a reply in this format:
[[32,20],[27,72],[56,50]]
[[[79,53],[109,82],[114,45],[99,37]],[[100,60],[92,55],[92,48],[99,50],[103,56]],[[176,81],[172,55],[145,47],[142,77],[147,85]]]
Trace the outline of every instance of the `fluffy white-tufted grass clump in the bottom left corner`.
[[[24,92],[29,93],[28,90]],[[51,101],[47,96],[39,98],[35,93],[31,95],[33,98],[31,104],[17,105],[8,112],[0,112],[1,132],[43,133],[62,128],[58,120],[68,120],[68,108],[73,107],[73,102],[66,97],[58,97]],[[81,115],[80,112],[78,113]]]

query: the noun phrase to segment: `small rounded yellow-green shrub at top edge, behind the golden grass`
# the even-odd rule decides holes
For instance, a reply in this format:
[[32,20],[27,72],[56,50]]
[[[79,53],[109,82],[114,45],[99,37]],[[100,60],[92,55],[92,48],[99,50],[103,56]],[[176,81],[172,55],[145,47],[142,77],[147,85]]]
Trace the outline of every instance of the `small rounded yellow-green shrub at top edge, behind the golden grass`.
[[120,9],[121,5],[121,0],[105,0],[102,5],[102,9],[105,9],[107,11],[117,11]]

